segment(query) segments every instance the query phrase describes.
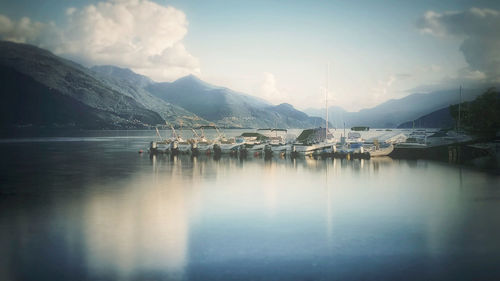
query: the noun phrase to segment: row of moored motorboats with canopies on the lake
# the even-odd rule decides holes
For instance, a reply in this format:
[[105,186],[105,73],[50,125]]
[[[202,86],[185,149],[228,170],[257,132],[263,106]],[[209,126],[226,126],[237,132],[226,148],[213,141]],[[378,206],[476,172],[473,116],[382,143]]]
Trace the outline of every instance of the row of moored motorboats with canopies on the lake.
[[[207,129],[215,131],[208,138]],[[304,130],[299,137],[287,138],[286,129],[258,129],[236,137],[226,137],[216,126],[191,129],[192,136],[183,138],[173,127],[171,136],[162,137],[157,130],[157,139],[150,143],[152,154],[232,154],[232,155],[280,155],[331,156],[336,158],[370,158],[389,155],[395,147],[405,145],[411,138],[397,135],[383,142],[365,140],[359,132],[348,132],[336,139],[325,128]],[[213,135],[213,134],[212,134]],[[406,144],[411,146],[411,144]]]

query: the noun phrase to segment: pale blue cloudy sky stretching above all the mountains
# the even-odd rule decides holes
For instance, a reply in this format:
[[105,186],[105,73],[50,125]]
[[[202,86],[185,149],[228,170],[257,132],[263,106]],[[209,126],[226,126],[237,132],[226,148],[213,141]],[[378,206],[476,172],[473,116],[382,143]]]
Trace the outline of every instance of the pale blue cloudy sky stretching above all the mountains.
[[348,110],[500,83],[500,1],[0,1],[0,37],[156,81]]

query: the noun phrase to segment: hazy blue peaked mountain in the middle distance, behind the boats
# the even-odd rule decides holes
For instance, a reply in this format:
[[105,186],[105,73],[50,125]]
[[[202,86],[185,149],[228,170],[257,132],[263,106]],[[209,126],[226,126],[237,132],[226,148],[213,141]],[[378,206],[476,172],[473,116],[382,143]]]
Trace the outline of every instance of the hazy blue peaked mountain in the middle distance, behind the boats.
[[273,106],[193,75],[172,83],[150,84],[146,90],[220,126],[305,128],[321,124],[321,118],[309,117],[289,104]]

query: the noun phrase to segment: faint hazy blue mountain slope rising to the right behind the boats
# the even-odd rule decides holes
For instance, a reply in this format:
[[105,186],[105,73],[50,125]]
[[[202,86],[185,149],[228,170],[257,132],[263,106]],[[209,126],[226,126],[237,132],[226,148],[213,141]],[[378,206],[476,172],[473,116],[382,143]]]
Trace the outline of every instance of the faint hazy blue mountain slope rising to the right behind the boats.
[[[462,91],[462,100],[473,100],[481,94],[481,89]],[[329,109],[329,121],[338,127],[370,126],[374,128],[393,128],[408,120],[415,120],[425,114],[442,109],[459,101],[458,89],[437,91],[428,94],[411,94],[400,99],[391,99],[373,108],[358,112],[347,112],[338,107]],[[324,116],[324,109],[308,109],[312,116]]]

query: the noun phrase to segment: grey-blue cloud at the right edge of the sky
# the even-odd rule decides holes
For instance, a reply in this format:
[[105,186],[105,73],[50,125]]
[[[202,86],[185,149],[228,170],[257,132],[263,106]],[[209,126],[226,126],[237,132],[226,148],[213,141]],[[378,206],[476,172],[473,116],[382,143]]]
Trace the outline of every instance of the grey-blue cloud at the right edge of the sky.
[[471,8],[462,12],[426,12],[418,28],[437,37],[462,39],[460,51],[468,68],[459,78],[500,82],[500,12]]

